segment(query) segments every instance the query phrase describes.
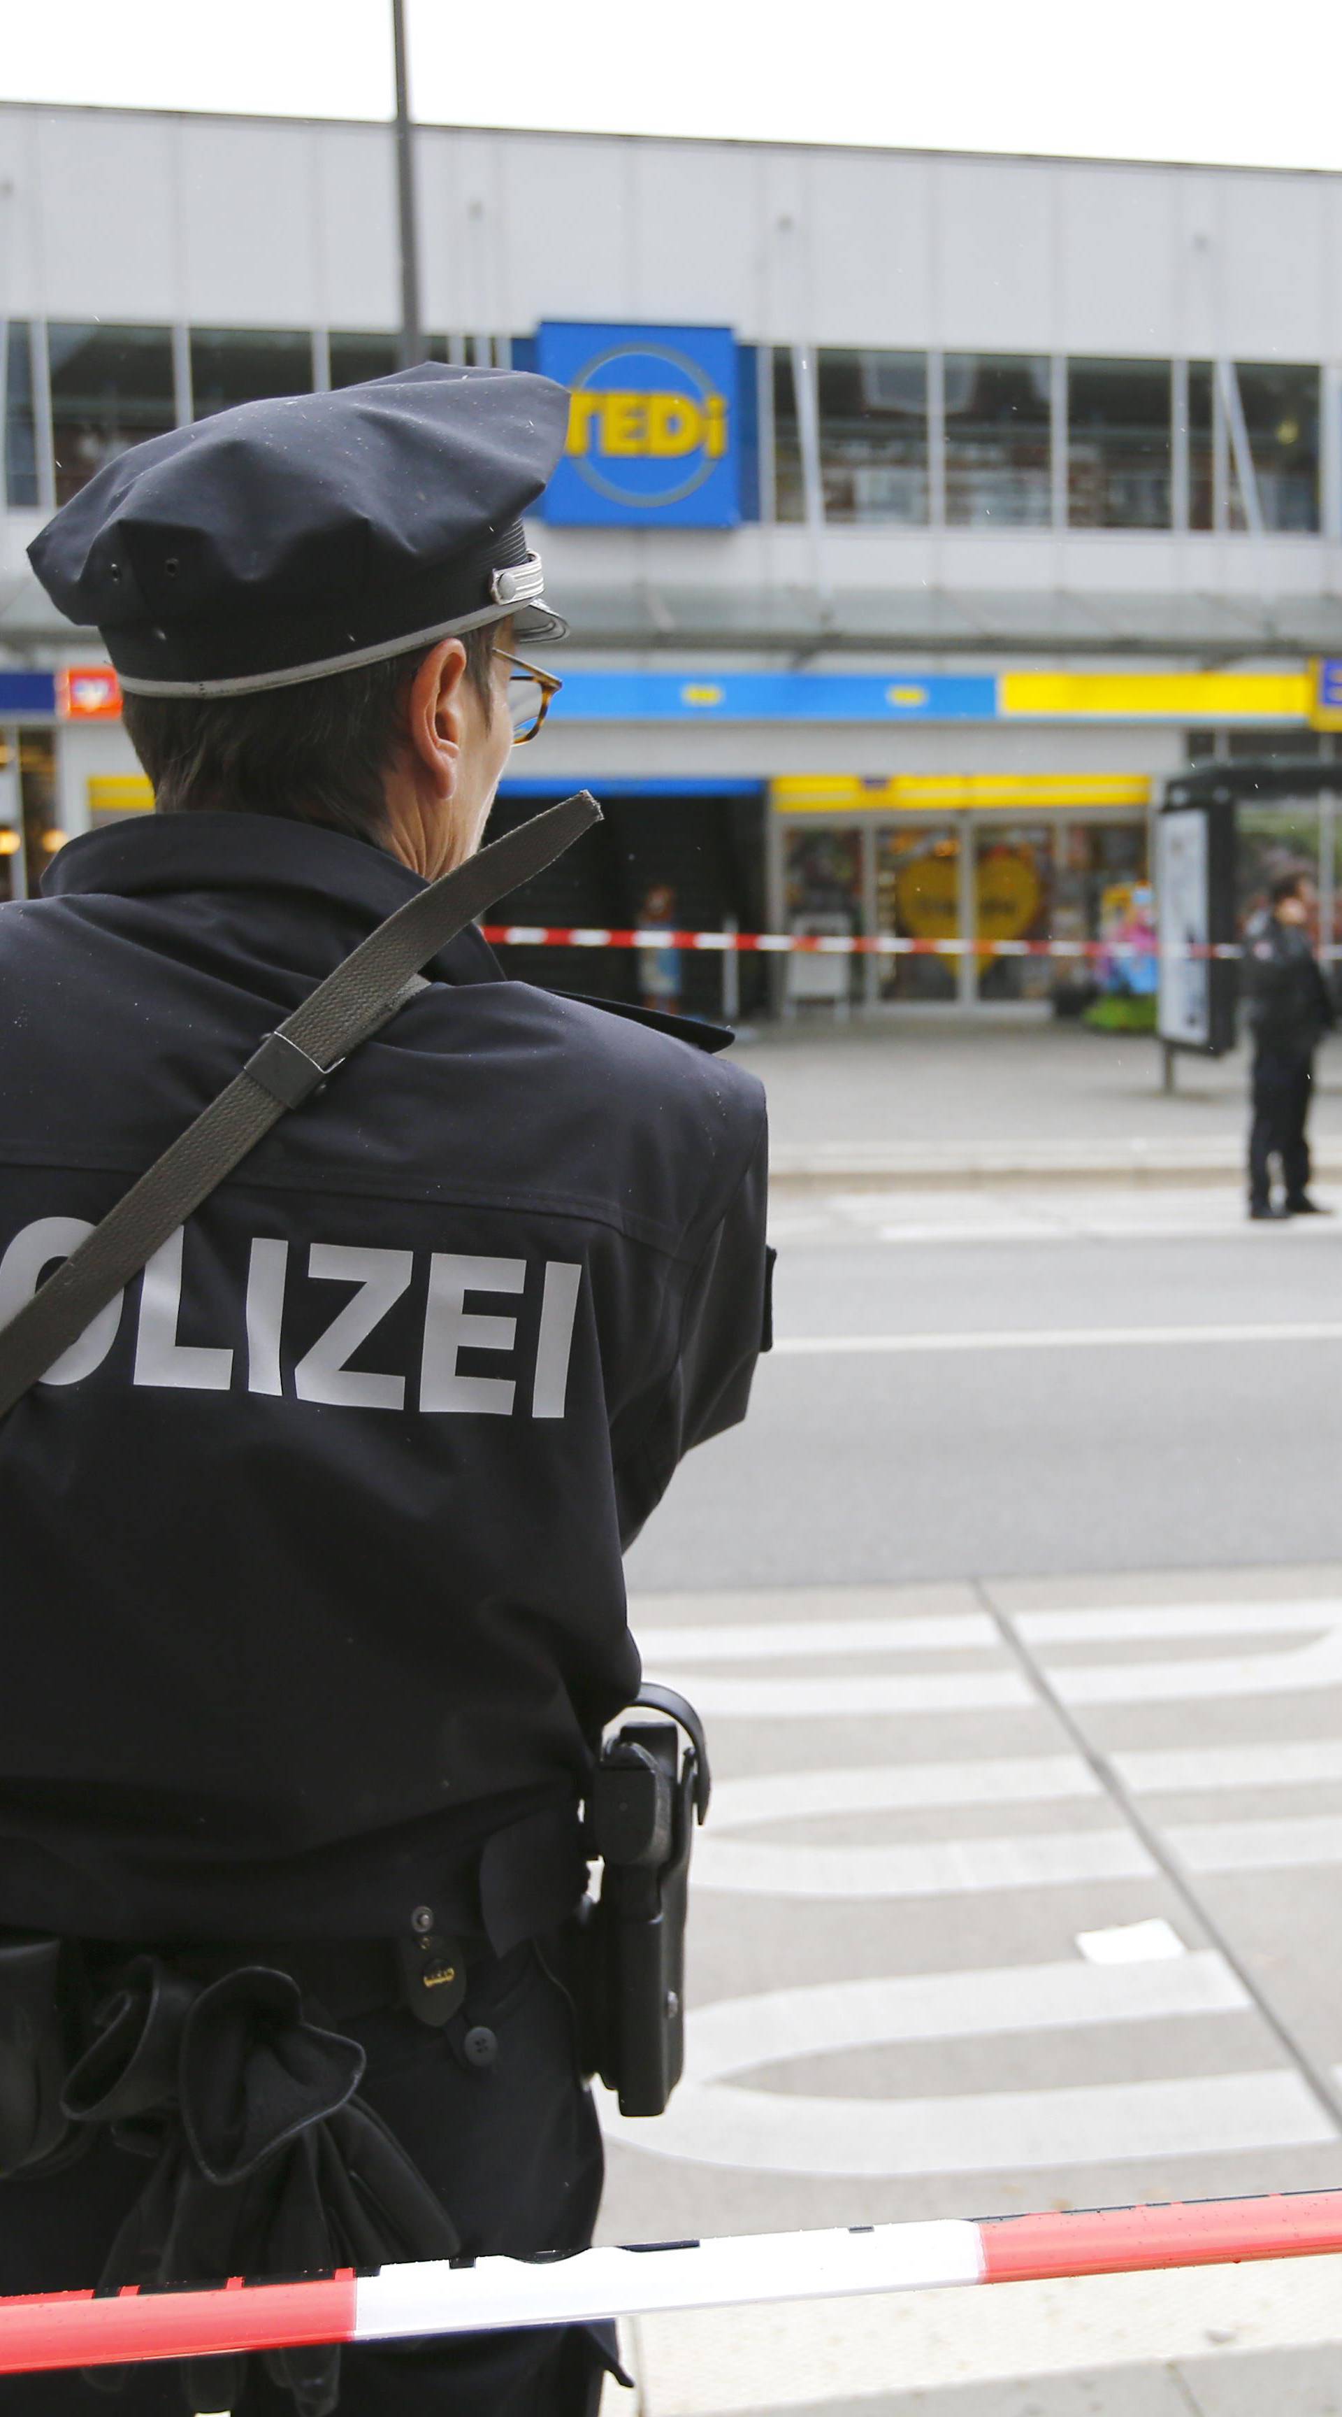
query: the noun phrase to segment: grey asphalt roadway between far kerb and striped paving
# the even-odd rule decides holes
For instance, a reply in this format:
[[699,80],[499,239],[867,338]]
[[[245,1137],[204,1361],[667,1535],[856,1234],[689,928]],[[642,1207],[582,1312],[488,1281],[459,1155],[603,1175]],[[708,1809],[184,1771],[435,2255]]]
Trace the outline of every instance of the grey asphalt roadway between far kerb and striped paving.
[[[630,1557],[635,1588],[1342,1549],[1342,1341],[1311,1334],[1342,1320],[1342,1218],[1262,1228],[1231,1187],[1093,1187],[794,1194],[775,1228],[782,1349],[748,1424],[681,1470]],[[1226,1339],[1236,1327],[1253,1339]],[[1178,1339],[994,1341],[1021,1329]],[[840,1349],[910,1337],[982,1341]]]

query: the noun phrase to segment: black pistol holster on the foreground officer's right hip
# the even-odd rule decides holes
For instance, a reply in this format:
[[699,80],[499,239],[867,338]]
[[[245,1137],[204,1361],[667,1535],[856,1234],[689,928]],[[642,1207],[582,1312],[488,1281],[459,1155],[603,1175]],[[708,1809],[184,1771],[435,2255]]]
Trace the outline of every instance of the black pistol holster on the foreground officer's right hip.
[[685,2062],[685,1912],[690,1837],[707,1813],[710,1769],[700,1716],[671,1687],[637,1704],[666,1721],[625,1721],[591,1776],[589,1847],[601,1895],[587,1905],[587,2067],[615,2091],[620,2115],[661,2115]]

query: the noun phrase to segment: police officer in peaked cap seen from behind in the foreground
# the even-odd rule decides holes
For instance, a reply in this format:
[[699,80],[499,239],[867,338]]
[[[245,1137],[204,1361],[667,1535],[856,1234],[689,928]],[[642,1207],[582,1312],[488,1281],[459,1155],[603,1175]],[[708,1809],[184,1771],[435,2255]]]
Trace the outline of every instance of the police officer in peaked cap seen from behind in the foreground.
[[[526,662],[562,621],[521,512],[565,423],[541,377],[439,365],[246,404],[36,539],[157,812],[0,916],[0,1322],[478,848],[558,686]],[[326,2093],[355,2238],[369,2204],[420,2255],[434,2224],[463,2255],[591,2238],[579,1798],[640,1675],[620,1552],[746,1412],[763,1095],[722,1034],[509,981],[475,928],[430,974],[0,1426],[0,1924],[60,1941],[60,2013],[92,2009],[68,2052],[94,2040],[68,2098],[106,2117],[0,2185],[0,2291],[275,2270],[278,2238],[311,2262],[328,2151],[290,2158],[266,2231],[275,2093],[294,2125]],[[343,2417],[582,2417],[613,2349],[425,2342],[338,2383],[323,2357],[135,2369],[121,2405],[179,2412],[186,2378],[239,2417],[336,2390]]]

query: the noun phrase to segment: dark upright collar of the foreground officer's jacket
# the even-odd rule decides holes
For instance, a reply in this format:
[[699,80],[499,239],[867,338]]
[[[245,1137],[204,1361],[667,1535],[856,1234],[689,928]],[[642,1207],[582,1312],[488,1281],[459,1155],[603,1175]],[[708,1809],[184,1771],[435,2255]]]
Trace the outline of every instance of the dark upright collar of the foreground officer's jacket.
[[[43,897],[164,897],[251,889],[352,909],[372,931],[427,882],[386,848],[280,815],[138,815],[70,839],[41,880]],[[432,960],[439,981],[502,981],[475,928]]]

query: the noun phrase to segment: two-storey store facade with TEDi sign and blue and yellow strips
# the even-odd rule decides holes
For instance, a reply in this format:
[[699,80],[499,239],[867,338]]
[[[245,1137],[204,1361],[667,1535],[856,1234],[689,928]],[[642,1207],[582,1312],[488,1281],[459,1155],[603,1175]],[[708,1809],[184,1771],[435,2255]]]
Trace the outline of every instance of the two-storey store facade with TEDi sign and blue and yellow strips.
[[[1342,179],[415,143],[430,353],[574,396],[533,532],[565,694],[500,812],[589,783],[608,824],[514,921],[867,943],[741,962],[751,1013],[1038,1013],[1057,964],[1021,943],[1144,911],[1168,776],[1335,747]],[[396,222],[377,126],[24,106],[0,213],[2,899],[147,802],[97,633],[27,541],[140,437],[386,375]],[[722,957],[681,957],[712,1008]]]

